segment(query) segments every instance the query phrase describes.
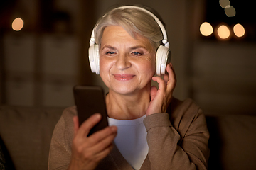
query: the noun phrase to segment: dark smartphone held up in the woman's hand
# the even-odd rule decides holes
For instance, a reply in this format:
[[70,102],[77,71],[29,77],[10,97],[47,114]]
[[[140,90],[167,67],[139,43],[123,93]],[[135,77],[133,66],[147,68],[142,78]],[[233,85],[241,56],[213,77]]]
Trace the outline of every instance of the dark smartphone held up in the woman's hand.
[[95,113],[100,113],[102,115],[100,122],[90,130],[90,133],[87,136],[107,127],[105,94],[101,86],[77,85],[73,88],[73,94],[78,111],[79,125]]

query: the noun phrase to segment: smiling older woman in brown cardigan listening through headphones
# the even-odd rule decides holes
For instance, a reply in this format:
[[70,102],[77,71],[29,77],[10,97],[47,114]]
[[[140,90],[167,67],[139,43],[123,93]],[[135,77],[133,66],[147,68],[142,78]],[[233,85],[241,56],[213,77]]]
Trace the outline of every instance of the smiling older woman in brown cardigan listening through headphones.
[[100,18],[91,45],[99,50],[94,72],[109,88],[110,126],[87,137],[100,114],[79,127],[75,106],[65,109],[53,132],[49,169],[207,169],[209,135],[201,108],[172,96],[171,64],[160,71],[164,76],[154,76],[159,48],[168,42],[153,16],[124,6]]

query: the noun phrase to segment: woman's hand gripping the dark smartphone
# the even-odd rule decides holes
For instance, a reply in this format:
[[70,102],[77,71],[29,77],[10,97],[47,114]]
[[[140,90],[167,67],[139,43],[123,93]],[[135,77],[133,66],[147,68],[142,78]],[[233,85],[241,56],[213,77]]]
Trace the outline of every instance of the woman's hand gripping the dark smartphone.
[[112,142],[117,135],[117,127],[107,127],[87,137],[100,119],[101,115],[96,113],[79,127],[78,116],[73,118],[74,138],[69,169],[95,169],[97,164],[110,153]]

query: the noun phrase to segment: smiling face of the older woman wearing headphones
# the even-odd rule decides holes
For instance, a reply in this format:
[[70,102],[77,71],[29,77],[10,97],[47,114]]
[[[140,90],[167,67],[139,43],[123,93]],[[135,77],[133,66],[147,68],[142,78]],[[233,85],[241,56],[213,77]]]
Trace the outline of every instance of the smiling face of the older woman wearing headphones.
[[147,38],[132,38],[121,26],[105,28],[100,45],[100,77],[118,94],[149,90],[155,72],[155,50]]

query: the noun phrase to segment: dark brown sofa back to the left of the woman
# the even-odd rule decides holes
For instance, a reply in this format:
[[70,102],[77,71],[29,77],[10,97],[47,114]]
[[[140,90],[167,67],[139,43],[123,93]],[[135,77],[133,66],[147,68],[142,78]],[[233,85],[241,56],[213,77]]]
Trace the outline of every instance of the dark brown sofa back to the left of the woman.
[[15,169],[48,169],[48,152],[63,108],[0,107],[0,136]]

